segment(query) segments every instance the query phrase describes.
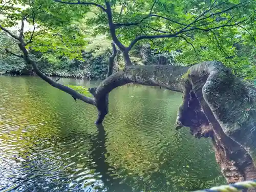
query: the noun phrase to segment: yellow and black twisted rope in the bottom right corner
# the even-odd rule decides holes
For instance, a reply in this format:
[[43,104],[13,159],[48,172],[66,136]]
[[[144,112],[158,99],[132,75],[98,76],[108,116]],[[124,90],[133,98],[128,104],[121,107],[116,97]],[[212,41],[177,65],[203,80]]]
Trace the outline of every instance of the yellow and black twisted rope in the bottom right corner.
[[194,192],[238,192],[246,189],[256,188],[256,180],[242,181],[230,185],[221,185],[218,187],[211,187],[210,189],[197,190]]

